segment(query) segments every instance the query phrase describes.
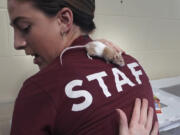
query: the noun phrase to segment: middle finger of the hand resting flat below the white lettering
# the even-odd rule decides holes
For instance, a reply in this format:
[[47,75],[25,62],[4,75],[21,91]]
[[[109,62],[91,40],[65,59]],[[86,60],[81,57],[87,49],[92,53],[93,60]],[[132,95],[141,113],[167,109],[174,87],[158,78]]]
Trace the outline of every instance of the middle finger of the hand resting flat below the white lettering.
[[141,106],[141,114],[140,114],[140,119],[139,119],[139,123],[142,124],[142,125],[146,124],[147,111],[148,111],[148,100],[143,99],[142,100],[142,106]]

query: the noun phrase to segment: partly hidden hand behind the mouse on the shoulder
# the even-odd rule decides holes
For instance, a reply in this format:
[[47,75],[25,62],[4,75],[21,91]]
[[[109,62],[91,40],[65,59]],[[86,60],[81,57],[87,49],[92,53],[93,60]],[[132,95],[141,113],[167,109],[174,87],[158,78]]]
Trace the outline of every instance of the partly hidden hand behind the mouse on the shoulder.
[[111,41],[108,41],[106,39],[97,39],[96,41],[100,41],[102,42],[103,44],[107,45],[108,47],[114,49],[115,51],[117,51],[118,53],[121,52],[121,53],[125,53],[124,50],[122,50],[121,48],[119,48],[118,46],[114,45]]

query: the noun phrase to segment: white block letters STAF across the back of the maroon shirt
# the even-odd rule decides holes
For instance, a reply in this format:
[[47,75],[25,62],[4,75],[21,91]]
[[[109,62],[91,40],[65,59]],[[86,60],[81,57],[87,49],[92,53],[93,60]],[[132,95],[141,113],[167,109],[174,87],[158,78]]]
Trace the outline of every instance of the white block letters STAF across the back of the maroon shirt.
[[[138,63],[133,62],[133,63],[127,64],[127,67],[131,71],[132,75],[135,77],[137,85],[141,85],[142,81],[140,80],[140,76],[143,75],[143,73],[141,70],[135,70],[135,68],[139,67]],[[122,88],[123,85],[129,85],[130,87],[136,86],[135,82],[133,83],[126,76],[126,74],[120,71],[118,68],[112,68],[112,74],[114,75],[115,85],[118,92],[123,91],[123,88]],[[88,81],[97,80],[100,88],[102,89],[103,94],[107,98],[109,98],[112,96],[112,94],[108,90],[108,86],[105,84],[103,80],[104,77],[108,77],[108,74],[105,71],[86,76]],[[89,91],[74,90],[74,87],[82,86],[82,85],[83,85],[83,80],[73,80],[67,83],[67,85],[65,86],[65,94],[67,95],[67,97],[72,98],[72,99],[77,99],[80,97],[85,98],[85,100],[82,103],[72,105],[72,111],[74,112],[85,110],[93,103],[93,97]]]

